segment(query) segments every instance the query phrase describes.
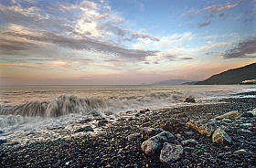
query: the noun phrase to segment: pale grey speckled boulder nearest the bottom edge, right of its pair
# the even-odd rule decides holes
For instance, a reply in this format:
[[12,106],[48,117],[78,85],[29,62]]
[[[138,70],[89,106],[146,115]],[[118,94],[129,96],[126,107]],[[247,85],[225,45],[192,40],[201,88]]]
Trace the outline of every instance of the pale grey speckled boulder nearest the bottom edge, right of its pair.
[[181,158],[182,154],[183,147],[181,145],[165,142],[160,153],[160,161],[167,164],[174,163]]

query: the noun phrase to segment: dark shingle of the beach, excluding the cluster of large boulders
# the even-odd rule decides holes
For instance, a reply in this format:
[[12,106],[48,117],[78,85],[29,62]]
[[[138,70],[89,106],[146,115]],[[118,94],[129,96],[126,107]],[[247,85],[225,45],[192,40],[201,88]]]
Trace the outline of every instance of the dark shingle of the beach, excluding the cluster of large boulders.
[[[255,92],[251,92],[255,95]],[[256,164],[255,147],[246,146],[253,137],[240,139],[227,146],[217,145],[211,139],[192,131],[187,135],[179,132],[185,140],[195,139],[200,145],[191,153],[184,153],[175,163],[165,164],[159,161],[159,156],[148,157],[141,152],[140,146],[145,140],[140,136],[129,137],[139,133],[142,127],[159,128],[159,123],[173,115],[185,112],[189,119],[213,119],[231,110],[240,114],[256,108],[255,98],[236,98],[219,100],[218,103],[205,105],[188,105],[153,110],[131,118],[121,118],[107,125],[102,124],[102,131],[70,137],[66,140],[34,142],[27,145],[1,145],[0,166],[5,167],[249,167]],[[104,120],[100,120],[103,121]],[[107,121],[106,121],[107,122]],[[252,118],[256,124],[256,118]],[[104,126],[105,125],[105,126]],[[251,130],[256,136],[256,129]],[[229,133],[229,132],[228,132]],[[229,134],[235,140],[236,134]],[[179,140],[177,140],[179,141]],[[180,142],[180,141],[179,141]],[[233,152],[248,149],[254,153],[251,156],[237,156]],[[227,153],[226,153],[227,152]],[[224,153],[219,155],[219,153]],[[226,154],[225,154],[226,153]],[[186,161],[186,162],[185,162]],[[188,162],[189,161],[189,162]]]

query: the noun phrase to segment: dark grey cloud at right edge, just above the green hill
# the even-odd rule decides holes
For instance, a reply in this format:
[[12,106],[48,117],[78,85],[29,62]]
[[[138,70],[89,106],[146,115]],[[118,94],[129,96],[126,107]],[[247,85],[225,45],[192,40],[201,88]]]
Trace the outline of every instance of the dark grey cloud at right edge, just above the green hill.
[[[256,38],[249,38],[237,46],[226,50],[223,58],[256,58]],[[252,56],[250,56],[252,55]]]

